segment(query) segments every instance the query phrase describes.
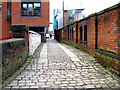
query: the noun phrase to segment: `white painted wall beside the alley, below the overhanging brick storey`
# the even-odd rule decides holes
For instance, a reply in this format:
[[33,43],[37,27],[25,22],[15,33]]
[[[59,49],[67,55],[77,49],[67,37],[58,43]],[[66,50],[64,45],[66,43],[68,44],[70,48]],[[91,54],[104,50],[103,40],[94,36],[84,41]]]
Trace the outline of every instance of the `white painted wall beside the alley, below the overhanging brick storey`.
[[33,31],[29,31],[29,55],[33,55],[35,50],[37,49],[37,47],[41,44],[41,35],[33,32]]

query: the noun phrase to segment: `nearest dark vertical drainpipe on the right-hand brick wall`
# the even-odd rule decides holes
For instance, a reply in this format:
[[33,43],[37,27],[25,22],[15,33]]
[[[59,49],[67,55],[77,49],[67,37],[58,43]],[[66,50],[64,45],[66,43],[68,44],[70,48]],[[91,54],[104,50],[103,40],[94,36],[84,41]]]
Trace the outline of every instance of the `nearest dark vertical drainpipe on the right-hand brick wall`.
[[95,13],[95,49],[98,49],[98,14]]

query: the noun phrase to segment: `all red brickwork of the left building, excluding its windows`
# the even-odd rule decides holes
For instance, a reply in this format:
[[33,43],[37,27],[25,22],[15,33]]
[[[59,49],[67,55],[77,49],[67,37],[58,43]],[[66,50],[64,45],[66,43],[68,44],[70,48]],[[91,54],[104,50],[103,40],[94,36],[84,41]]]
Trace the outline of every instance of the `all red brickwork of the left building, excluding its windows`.
[[11,24],[25,24],[28,26],[49,26],[49,2],[41,3],[41,17],[21,17],[21,3],[12,2],[12,18],[7,20],[7,2],[2,2],[2,13],[0,13],[0,22],[2,24],[0,31],[0,37],[6,37],[9,35]]

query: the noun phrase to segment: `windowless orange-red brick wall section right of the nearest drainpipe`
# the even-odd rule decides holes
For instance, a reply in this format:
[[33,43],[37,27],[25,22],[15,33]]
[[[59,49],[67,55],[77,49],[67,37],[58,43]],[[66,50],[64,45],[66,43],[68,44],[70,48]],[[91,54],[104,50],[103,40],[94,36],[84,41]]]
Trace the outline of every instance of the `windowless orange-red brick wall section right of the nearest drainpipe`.
[[118,11],[114,9],[98,16],[98,48],[118,51]]

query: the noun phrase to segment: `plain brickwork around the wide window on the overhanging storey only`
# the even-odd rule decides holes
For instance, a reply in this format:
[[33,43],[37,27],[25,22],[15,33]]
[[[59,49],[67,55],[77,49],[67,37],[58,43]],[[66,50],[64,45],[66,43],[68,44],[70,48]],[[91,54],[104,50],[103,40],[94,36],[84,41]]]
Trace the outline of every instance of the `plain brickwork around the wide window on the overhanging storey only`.
[[12,2],[12,24],[25,24],[28,26],[49,26],[49,2],[41,2],[40,17],[22,17],[21,3]]

